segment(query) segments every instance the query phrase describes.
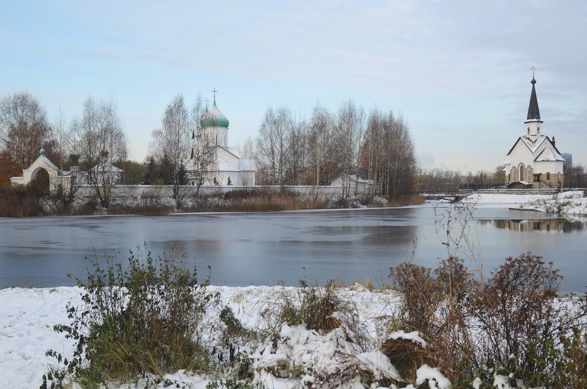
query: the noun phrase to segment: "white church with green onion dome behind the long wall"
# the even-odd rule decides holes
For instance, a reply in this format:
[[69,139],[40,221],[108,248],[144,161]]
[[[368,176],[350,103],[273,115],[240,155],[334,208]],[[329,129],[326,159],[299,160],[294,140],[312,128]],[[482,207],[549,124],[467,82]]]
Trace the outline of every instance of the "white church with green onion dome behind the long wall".
[[228,146],[228,119],[216,106],[216,98],[193,133],[191,157],[185,163],[189,185],[254,186],[255,160],[242,159],[237,147]]

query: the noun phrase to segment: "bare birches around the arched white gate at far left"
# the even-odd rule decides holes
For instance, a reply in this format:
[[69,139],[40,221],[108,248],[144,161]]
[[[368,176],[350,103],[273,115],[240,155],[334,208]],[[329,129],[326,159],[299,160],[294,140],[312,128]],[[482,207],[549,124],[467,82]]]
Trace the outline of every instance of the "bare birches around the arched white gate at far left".
[[[69,125],[62,110],[49,120],[39,100],[28,92],[4,96],[0,100],[2,183],[7,185],[9,177],[21,175],[39,156],[41,147],[60,169],[79,166],[86,172],[83,178],[92,185],[102,206],[109,206],[115,183],[113,166],[126,160],[128,150],[113,96],[104,100],[89,96]],[[59,190],[70,198],[75,191],[73,180],[72,187]]]

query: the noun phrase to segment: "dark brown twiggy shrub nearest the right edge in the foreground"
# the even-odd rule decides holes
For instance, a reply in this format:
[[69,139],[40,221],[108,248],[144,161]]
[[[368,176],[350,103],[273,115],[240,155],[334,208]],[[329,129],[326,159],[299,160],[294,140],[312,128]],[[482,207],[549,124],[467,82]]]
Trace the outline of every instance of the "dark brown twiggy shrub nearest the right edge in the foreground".
[[552,382],[562,373],[561,341],[585,317],[584,303],[562,304],[561,274],[531,253],[507,258],[491,274],[475,314],[487,342],[484,359],[506,365],[514,355],[517,378],[532,386]]

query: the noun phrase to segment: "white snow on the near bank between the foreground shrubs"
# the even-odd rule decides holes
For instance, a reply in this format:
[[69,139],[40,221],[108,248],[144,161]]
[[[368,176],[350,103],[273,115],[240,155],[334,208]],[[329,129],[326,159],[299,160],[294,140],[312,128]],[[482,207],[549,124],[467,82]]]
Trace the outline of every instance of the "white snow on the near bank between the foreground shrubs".
[[[249,328],[262,328],[266,325],[262,312],[275,303],[282,293],[296,293],[292,287],[210,287],[218,290],[224,304],[231,306],[236,316]],[[0,387],[37,388],[42,383],[42,375],[47,372],[48,364],[55,363],[46,357],[50,348],[68,356],[73,351],[73,344],[63,334],[53,331],[55,324],[70,324],[66,313],[66,304],[80,301],[78,287],[58,287],[53,289],[10,288],[0,290]],[[392,314],[399,297],[393,291],[370,292],[360,285],[340,290],[345,299],[355,303],[364,323],[365,331],[376,337],[377,320]],[[388,334],[402,337],[418,344],[426,342],[417,332]],[[299,387],[302,381],[310,381],[311,375],[302,375],[295,380],[278,378],[268,373],[269,368],[280,360],[295,361],[296,365],[312,367],[333,372],[349,365],[360,366],[372,371],[375,377],[397,378],[397,370],[389,359],[380,351],[362,352],[357,344],[348,340],[342,330],[329,333],[317,333],[306,330],[303,326],[282,326],[279,331],[277,349],[266,352],[264,347],[248,352],[253,361],[258,377],[267,388]],[[271,348],[271,347],[269,347]],[[421,380],[434,378],[440,387],[446,387],[448,381],[436,368],[423,365],[418,373]],[[210,382],[207,378],[186,371],[169,374],[169,380],[177,381],[186,388],[204,389]],[[127,388],[127,385],[121,388]],[[140,387],[140,385],[136,386]],[[161,386],[163,387],[163,386]],[[173,385],[173,387],[176,387]],[[357,381],[350,381],[346,388],[363,388]],[[411,387],[411,385],[409,386]]]

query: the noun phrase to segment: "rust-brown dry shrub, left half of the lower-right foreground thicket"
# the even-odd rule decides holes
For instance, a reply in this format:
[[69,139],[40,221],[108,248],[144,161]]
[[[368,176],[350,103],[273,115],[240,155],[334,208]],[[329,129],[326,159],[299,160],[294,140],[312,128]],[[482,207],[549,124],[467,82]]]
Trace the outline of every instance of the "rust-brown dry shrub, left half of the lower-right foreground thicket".
[[[468,331],[471,310],[468,297],[477,283],[463,260],[449,257],[434,270],[404,262],[390,269],[393,286],[403,294],[399,326],[420,331],[431,343],[419,360],[436,365],[453,381],[474,376],[478,363]],[[414,361],[407,361],[413,367]],[[415,370],[411,371],[413,377]]]

